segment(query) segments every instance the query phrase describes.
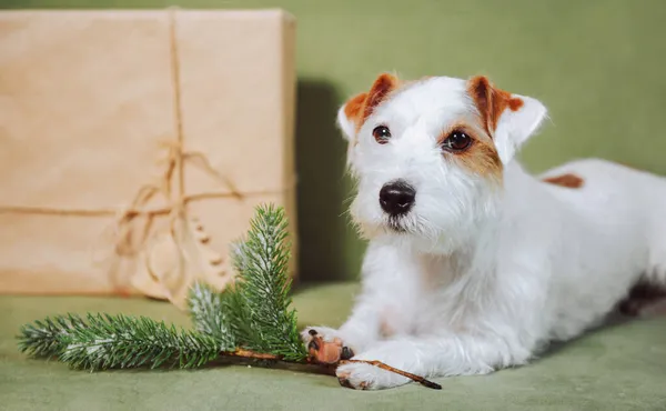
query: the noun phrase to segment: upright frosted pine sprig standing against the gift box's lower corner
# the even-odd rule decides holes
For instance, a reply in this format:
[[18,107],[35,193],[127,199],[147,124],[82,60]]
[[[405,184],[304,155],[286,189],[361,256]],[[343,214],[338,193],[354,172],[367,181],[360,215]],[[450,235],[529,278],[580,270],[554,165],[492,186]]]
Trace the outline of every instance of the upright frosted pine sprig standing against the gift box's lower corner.
[[233,330],[244,349],[302,361],[307,353],[291,307],[290,244],[284,209],[261,206],[248,239],[233,252],[239,282],[228,308],[238,313]]

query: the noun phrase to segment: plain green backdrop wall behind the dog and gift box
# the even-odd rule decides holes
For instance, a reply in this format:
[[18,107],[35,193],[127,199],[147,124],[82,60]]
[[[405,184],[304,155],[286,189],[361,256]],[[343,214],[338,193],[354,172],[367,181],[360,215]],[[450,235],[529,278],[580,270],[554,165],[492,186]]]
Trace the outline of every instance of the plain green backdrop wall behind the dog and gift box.
[[523,152],[543,171],[602,157],[666,174],[664,0],[0,0],[7,8],[282,8],[297,19],[297,169],[304,280],[357,277],[337,106],[381,71],[483,73],[541,99],[551,121]]

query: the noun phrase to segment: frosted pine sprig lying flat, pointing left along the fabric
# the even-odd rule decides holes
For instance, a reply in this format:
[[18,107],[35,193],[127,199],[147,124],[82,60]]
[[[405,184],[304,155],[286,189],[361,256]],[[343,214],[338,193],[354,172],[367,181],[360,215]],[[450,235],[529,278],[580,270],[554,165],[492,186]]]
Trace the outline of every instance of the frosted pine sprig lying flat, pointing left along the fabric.
[[58,355],[74,369],[201,367],[219,355],[219,341],[199,332],[176,330],[145,317],[88,314],[57,317],[26,325],[22,351]]

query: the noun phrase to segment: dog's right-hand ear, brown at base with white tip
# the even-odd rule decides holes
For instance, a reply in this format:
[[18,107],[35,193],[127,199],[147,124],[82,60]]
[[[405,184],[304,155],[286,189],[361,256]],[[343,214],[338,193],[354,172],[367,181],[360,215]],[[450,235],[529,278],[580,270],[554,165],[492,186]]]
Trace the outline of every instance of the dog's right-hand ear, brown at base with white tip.
[[546,108],[536,99],[494,87],[483,76],[470,79],[467,90],[500,159],[503,163],[509,162],[546,118]]

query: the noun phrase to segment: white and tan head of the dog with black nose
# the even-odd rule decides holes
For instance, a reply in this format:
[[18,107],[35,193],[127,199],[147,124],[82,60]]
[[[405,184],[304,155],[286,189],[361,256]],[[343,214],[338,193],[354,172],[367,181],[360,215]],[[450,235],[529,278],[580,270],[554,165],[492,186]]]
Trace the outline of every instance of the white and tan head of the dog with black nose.
[[452,251],[492,217],[504,167],[546,114],[485,77],[402,82],[382,74],[340,109],[365,237]]

